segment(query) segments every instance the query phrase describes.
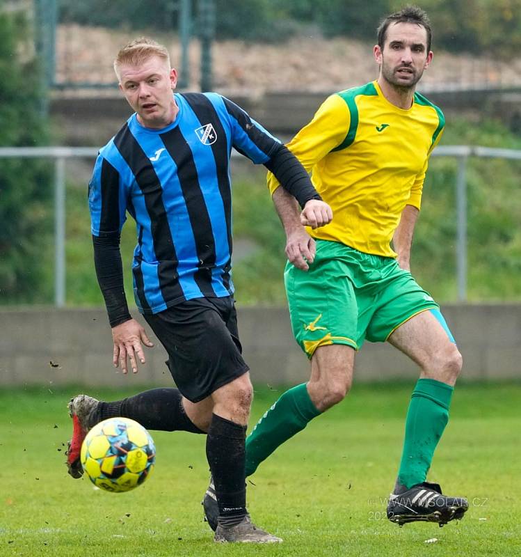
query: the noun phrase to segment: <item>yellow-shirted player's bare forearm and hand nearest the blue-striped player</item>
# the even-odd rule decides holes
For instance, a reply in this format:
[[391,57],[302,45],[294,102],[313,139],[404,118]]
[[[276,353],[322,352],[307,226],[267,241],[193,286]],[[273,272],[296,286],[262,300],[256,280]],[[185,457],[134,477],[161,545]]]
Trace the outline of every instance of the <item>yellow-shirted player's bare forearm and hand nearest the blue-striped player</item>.
[[272,198],[286,233],[286,256],[295,267],[307,271],[314,260],[315,241],[300,222],[298,203],[282,187],[275,189]]

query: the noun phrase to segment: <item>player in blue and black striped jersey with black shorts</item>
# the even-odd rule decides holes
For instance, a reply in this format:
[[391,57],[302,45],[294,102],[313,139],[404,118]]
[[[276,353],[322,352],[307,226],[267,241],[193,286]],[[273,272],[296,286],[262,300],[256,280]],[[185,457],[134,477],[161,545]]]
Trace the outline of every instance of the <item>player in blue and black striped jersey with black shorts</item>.
[[[69,403],[73,434],[67,466],[81,477],[86,432],[111,416],[152,430],[207,433],[218,542],[279,542],[246,510],[245,437],[252,399],[234,308],[232,148],[264,164],[302,207],[301,223],[318,228],[332,213],[289,150],[248,113],[217,93],[173,93],[168,51],[144,38],[114,63],[134,109],[99,151],[89,184],[96,274],[113,335],[113,364],[127,373],[152,346],[123,289],[120,233],[127,213],[137,226],[132,272],[139,311],[168,352],[177,389],[152,389],[115,402],[77,395]],[[313,244],[304,254],[312,261]]]

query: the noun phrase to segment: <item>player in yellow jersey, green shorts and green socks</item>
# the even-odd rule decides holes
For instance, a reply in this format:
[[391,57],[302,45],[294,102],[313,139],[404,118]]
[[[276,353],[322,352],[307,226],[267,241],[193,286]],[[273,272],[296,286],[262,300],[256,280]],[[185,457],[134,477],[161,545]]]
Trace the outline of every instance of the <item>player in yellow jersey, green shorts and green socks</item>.
[[[291,324],[311,377],[285,392],[255,426],[246,441],[246,476],[344,399],[365,339],[387,341],[420,368],[387,516],[400,525],[442,525],[463,517],[468,503],[426,482],[462,358],[438,304],[409,265],[428,157],[444,126],[440,109],[415,92],[433,58],[424,11],[408,6],[384,19],[374,57],[378,79],[328,97],[288,145],[332,207],[332,222],[305,230],[294,199],[268,175],[287,233]],[[210,485],[204,501],[210,525],[212,492]]]

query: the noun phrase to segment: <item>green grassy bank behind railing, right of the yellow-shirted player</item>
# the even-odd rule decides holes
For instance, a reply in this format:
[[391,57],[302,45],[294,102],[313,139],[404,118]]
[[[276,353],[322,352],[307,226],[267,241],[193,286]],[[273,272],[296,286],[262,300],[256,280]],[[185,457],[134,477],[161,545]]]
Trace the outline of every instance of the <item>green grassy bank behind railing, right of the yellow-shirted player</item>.
[[[442,145],[521,150],[494,120],[448,118]],[[521,162],[467,161],[467,291],[471,301],[521,299]],[[456,299],[456,159],[432,157],[412,248],[412,272],[440,301]]]

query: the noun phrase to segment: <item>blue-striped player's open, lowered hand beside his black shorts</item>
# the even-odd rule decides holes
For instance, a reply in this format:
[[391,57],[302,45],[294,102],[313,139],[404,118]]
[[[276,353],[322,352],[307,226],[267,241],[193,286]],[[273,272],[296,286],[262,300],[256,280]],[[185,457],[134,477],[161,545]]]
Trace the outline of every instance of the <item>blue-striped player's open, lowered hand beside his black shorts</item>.
[[145,363],[143,353],[143,343],[147,347],[154,346],[154,343],[147,337],[145,329],[141,327],[135,319],[130,319],[112,328],[112,340],[114,352],[112,362],[115,368],[121,366],[122,372],[127,375],[127,357],[130,359],[132,372],[138,372],[138,361]]

